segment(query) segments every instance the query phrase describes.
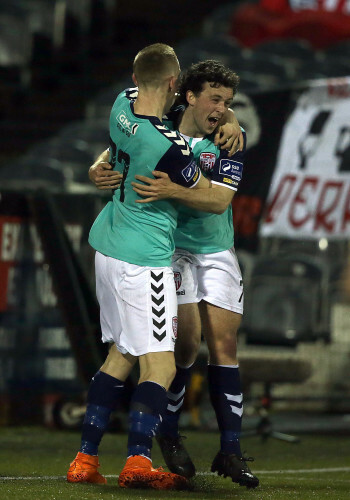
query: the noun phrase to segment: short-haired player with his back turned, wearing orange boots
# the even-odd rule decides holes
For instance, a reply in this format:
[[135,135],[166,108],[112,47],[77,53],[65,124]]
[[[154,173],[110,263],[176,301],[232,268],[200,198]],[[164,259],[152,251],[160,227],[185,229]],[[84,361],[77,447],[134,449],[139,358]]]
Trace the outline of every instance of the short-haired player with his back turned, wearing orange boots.
[[80,452],[69,482],[105,483],[98,472],[97,447],[124,382],[138,361],[139,383],[129,412],[128,455],[121,487],[178,489],[183,476],[154,469],[152,438],[167,406],[175,375],[177,298],[171,258],[177,207],[171,201],[136,204],[135,175],[168,173],[186,187],[206,187],[187,142],[161,118],[174,102],[179,63],[174,50],[154,44],[134,61],[138,95],[119,95],[110,115],[110,162],[123,171],[119,189],[95,220],[89,242],[96,250],[96,293],[102,340],[112,344],[88,394]]

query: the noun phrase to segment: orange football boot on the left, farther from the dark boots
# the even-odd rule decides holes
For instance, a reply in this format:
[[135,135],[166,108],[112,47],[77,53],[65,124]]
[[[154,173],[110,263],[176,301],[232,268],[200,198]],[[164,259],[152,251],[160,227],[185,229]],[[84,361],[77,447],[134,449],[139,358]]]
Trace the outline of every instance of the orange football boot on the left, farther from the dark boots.
[[79,453],[70,464],[67,473],[67,481],[69,483],[96,483],[106,484],[107,479],[98,472],[100,464],[98,457]]

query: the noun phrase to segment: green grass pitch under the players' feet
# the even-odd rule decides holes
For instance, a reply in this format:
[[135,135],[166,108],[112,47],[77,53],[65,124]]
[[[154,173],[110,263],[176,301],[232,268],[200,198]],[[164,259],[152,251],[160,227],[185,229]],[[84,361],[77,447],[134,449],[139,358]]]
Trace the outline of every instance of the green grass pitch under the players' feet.
[[[1,500],[88,499],[253,499],[253,500],[342,500],[350,499],[350,436],[301,436],[290,444],[257,437],[243,440],[243,449],[255,457],[251,469],[260,486],[242,488],[209,473],[218,450],[214,432],[188,432],[186,445],[197,466],[193,490],[165,492],[122,490],[117,475],[125,462],[126,435],[107,434],[100,447],[104,486],[68,484],[65,475],[79,448],[80,434],[40,427],[3,427],[0,447]],[[162,465],[157,444],[153,463]]]

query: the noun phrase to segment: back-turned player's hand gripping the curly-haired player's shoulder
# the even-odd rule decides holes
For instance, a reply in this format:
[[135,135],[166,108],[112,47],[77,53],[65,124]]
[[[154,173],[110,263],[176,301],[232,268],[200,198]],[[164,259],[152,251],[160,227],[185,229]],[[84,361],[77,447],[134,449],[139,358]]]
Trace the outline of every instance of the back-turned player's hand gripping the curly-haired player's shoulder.
[[229,157],[233,156],[237,151],[243,150],[243,132],[231,108],[228,108],[218,123],[214,143],[216,146],[220,145],[221,149],[226,149]]

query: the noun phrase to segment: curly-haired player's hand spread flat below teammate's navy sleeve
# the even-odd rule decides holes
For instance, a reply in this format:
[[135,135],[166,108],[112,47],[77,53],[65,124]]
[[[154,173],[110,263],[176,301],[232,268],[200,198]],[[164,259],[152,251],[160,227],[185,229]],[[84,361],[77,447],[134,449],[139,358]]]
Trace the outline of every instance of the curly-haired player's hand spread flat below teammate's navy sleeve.
[[135,175],[135,179],[144,184],[133,181],[131,183],[132,188],[137,194],[145,197],[143,200],[136,200],[136,203],[164,200],[165,198],[171,198],[175,193],[177,184],[170,180],[168,174],[159,170],[153,170],[152,174],[156,177],[155,179],[143,175]]

